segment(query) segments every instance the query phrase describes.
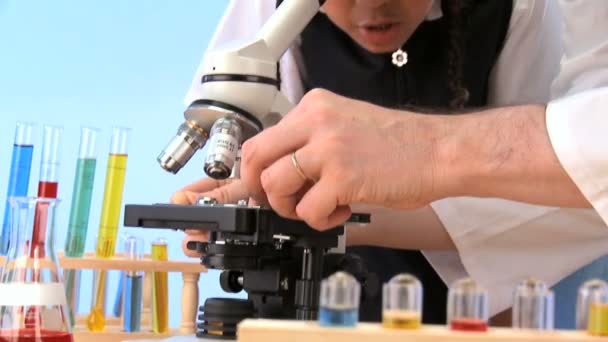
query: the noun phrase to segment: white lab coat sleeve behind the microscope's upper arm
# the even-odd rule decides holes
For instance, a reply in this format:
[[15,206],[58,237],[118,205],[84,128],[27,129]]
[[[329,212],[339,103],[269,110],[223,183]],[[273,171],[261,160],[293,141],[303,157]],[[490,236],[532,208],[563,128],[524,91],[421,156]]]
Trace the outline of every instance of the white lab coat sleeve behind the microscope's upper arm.
[[[231,0],[207,46],[207,50],[212,50],[227,42],[246,41],[254,38],[259,29],[274,13],[275,5],[275,0]],[[201,61],[186,94],[184,100],[186,106],[200,98],[202,68],[203,63]],[[282,56],[280,72],[282,75],[289,75],[288,78],[290,79],[290,82],[281,82],[282,92],[292,103],[296,103],[302,97],[302,86],[292,49],[289,49]]]

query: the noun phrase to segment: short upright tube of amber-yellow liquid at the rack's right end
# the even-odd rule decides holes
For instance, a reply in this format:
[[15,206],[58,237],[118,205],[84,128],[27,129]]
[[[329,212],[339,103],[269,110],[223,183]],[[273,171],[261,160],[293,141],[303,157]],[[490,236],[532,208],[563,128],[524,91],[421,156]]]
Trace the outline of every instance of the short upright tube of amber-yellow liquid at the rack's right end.
[[[152,242],[152,260],[167,261],[167,241],[158,238]],[[152,331],[169,331],[169,289],[167,272],[152,274]]]

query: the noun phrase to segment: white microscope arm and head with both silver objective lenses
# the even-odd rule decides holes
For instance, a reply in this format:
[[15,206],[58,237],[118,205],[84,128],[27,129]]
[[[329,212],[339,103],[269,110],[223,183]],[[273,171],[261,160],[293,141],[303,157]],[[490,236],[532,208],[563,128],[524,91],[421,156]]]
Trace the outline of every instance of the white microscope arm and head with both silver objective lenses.
[[291,109],[279,91],[277,64],[323,3],[284,0],[253,40],[205,54],[198,100],[159,155],[161,167],[177,173],[209,140],[205,173],[216,179],[231,175],[240,145]]

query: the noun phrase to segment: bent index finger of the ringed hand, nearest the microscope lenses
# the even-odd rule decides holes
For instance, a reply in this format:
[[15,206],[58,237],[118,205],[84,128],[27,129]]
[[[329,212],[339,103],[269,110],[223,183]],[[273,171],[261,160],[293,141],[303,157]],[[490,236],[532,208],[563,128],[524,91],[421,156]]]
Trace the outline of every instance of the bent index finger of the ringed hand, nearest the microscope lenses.
[[260,181],[262,171],[283,156],[304,146],[310,137],[310,125],[296,120],[281,121],[253,138],[242,147],[241,179],[252,197],[265,201]]

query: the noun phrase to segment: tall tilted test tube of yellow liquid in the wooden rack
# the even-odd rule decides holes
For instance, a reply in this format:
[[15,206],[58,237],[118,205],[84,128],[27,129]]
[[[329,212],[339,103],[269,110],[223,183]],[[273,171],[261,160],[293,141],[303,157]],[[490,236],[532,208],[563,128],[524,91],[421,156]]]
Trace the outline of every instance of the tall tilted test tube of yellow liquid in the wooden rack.
[[[114,256],[116,249],[122,193],[127,171],[128,134],[128,128],[114,127],[112,129],[112,140],[110,143],[110,153],[108,155],[108,166],[101,207],[101,219],[95,251],[95,255],[98,258],[111,258]],[[99,273],[95,275],[95,281],[98,283],[93,287],[94,304],[87,317],[87,328],[90,331],[103,331],[105,328],[107,271],[96,271],[95,273]]]

